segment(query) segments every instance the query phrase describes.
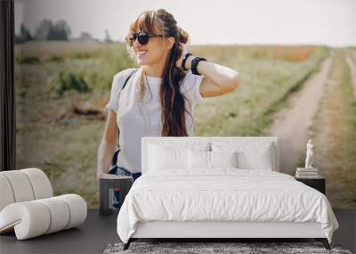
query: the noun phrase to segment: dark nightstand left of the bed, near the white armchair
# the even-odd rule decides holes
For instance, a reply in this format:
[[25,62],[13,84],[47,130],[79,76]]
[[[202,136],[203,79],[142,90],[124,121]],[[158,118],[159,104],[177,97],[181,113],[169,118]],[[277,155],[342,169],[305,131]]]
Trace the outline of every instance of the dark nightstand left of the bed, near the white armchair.
[[114,188],[120,189],[120,204],[122,204],[133,183],[133,176],[117,176],[112,174],[104,174],[100,176],[99,213],[101,215],[109,215],[112,213]]

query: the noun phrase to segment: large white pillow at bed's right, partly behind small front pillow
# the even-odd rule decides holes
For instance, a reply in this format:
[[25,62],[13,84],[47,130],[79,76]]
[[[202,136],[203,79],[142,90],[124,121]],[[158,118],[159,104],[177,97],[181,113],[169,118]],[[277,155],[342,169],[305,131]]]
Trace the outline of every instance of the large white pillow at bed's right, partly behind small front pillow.
[[238,152],[238,168],[272,170],[272,143],[213,142],[214,152]]

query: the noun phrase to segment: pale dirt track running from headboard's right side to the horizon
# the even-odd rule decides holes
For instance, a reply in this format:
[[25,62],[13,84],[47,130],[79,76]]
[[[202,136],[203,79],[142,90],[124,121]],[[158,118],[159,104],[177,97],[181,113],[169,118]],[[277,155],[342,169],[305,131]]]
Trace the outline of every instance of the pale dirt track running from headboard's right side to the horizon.
[[[324,86],[328,82],[328,73],[334,58],[334,52],[322,62],[320,72],[308,79],[303,88],[287,99],[287,107],[272,116],[271,127],[265,135],[279,136],[281,145],[279,171],[295,175],[295,168],[304,160],[309,127],[312,117],[318,110]],[[303,165],[300,165],[303,166]]]

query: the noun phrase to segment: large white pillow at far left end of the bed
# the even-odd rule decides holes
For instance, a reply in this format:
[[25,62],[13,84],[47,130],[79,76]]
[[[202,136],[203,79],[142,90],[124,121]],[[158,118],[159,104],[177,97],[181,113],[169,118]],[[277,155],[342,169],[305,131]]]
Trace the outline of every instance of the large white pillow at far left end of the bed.
[[188,149],[150,144],[149,170],[188,168]]

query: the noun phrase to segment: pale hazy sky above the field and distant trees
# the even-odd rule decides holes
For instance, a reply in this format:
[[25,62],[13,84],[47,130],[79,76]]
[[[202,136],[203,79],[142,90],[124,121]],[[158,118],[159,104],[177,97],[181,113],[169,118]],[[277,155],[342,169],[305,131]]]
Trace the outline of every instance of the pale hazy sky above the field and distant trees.
[[67,20],[71,37],[90,32],[124,40],[141,12],[164,8],[192,45],[356,45],[355,0],[15,0],[20,22],[33,33],[40,20]]

